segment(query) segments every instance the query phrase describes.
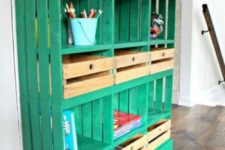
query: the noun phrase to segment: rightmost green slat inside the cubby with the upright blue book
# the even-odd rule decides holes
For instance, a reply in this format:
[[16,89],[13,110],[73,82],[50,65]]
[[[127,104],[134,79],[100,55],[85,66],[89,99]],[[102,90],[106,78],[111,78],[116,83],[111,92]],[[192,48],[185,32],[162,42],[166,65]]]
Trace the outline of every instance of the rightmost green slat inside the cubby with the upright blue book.
[[113,105],[112,95],[102,98],[103,108],[103,142],[112,144],[113,142]]

